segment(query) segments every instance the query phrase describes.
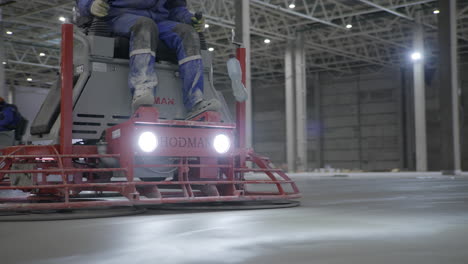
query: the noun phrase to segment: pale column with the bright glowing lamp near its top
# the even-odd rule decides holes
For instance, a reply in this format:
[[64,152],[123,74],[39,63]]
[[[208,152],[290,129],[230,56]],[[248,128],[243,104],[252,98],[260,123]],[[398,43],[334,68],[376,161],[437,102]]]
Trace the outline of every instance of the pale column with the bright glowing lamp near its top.
[[424,32],[421,24],[414,27],[414,52],[423,57],[413,61],[414,80],[414,127],[416,143],[416,171],[427,171],[427,135],[426,135],[426,83],[424,81]]

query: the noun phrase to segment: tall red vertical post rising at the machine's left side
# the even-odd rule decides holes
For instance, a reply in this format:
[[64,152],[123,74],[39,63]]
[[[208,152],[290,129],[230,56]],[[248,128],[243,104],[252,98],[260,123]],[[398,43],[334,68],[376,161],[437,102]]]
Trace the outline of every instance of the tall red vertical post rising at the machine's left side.
[[[62,25],[61,103],[60,103],[60,153],[72,154],[73,125],[73,25]],[[65,166],[71,164],[68,160]]]

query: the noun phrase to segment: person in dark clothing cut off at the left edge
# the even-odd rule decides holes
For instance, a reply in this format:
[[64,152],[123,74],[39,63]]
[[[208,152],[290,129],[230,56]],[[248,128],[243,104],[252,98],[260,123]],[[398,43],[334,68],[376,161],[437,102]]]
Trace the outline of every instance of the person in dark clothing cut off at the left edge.
[[15,145],[26,130],[27,120],[19,113],[16,105],[8,104],[0,97],[0,146]]

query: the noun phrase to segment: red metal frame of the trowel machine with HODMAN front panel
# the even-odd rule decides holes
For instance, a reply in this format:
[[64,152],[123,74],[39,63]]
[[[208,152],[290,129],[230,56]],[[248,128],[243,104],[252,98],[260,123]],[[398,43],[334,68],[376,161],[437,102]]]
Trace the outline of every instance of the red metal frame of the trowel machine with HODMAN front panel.
[[[238,58],[245,73],[245,49],[238,49]],[[0,210],[300,198],[296,184],[282,170],[272,168],[267,158],[245,148],[245,103],[237,103],[236,126],[221,123],[220,115],[213,112],[206,112],[191,121],[162,121],[158,119],[156,108],[142,107],[129,121],[107,130],[109,154],[103,155],[98,154],[97,146],[72,145],[73,25],[70,24],[62,26],[61,79],[60,145],[14,146],[1,151],[0,191],[23,190],[35,195],[0,198]],[[243,81],[245,83],[245,77]],[[135,138],[143,131],[166,136],[166,143],[174,138],[174,144],[167,143],[156,152],[143,153],[135,147]],[[237,136],[236,146],[224,155],[214,152],[208,144],[218,134],[224,134],[232,141]],[[178,138],[198,138],[202,143],[182,146],[176,143]],[[145,156],[172,157],[173,162],[136,162],[138,157]],[[115,159],[120,166],[94,166],[104,158]],[[247,161],[257,168],[248,168]],[[21,165],[25,164],[34,168],[23,169]],[[19,169],[13,165],[19,165]],[[177,177],[172,181],[140,181],[134,175],[137,168],[176,168]],[[111,180],[114,172],[122,174],[120,180]],[[263,175],[266,179],[248,180],[250,174],[247,173],[255,173],[255,178]],[[9,175],[32,177],[34,185],[13,186]],[[50,181],[50,175],[60,176],[60,180]],[[249,191],[247,187],[254,185],[270,186],[273,190]],[[78,196],[84,191],[113,192],[122,197],[86,200]]]

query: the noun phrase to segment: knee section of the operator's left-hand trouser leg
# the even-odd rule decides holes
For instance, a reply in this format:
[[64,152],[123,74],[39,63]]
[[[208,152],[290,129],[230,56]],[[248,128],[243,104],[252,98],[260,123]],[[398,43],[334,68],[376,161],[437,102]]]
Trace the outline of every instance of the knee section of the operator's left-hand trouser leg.
[[156,57],[159,30],[156,23],[147,17],[139,18],[131,28],[130,57],[151,54]]

